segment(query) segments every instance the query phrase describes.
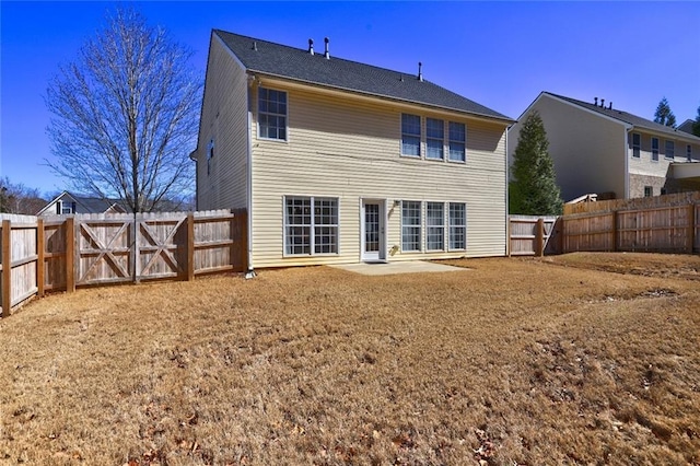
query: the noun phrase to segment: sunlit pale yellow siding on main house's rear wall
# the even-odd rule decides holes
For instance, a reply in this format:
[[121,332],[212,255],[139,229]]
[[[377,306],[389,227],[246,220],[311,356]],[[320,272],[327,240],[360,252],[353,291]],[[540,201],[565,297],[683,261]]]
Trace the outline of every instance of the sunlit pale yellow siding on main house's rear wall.
[[[288,141],[257,139],[253,125],[254,267],[360,260],[362,198],[386,200],[386,248],[399,246],[388,260],[505,254],[504,124],[409,108],[423,117],[423,135],[425,117],[467,126],[466,163],[415,160],[399,155],[400,115],[406,109],[398,105],[283,89],[265,80],[262,85],[288,91],[289,135]],[[283,257],[285,195],[338,198],[338,255]],[[402,199],[423,201],[423,246],[424,202],[466,202],[466,252],[401,254],[401,212],[395,201]]]

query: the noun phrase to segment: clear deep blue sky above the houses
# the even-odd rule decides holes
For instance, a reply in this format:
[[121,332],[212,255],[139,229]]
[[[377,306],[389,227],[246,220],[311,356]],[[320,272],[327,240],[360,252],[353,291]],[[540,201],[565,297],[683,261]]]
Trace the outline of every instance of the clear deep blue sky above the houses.
[[[128,3],[128,2],[122,2]],[[196,51],[203,78],[211,28],[425,79],[512,118],[541,91],[597,96],[653,118],[666,96],[678,123],[700,105],[700,2],[132,2]],[[0,3],[0,176],[42,191],[52,175],[44,95],[114,2]],[[194,148],[192,148],[194,149]]]

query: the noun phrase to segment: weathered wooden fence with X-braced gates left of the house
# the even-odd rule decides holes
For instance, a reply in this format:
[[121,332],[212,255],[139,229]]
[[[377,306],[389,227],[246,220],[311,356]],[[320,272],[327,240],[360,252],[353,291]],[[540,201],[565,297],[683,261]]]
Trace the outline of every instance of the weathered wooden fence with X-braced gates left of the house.
[[46,291],[247,268],[245,209],[0,217],[3,317]]

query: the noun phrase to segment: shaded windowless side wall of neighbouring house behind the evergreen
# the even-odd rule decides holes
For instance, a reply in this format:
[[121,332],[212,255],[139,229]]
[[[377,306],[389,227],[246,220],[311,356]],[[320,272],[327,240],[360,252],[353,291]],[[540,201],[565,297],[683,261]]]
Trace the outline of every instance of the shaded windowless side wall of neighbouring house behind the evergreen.
[[542,94],[509,131],[511,162],[522,123],[533,110],[545,125],[564,201],[591,193],[625,198],[623,124]]

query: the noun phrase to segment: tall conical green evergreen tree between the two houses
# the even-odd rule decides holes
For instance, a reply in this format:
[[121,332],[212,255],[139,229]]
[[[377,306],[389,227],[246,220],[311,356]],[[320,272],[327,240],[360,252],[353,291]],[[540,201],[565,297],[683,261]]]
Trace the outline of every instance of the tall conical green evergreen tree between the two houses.
[[509,184],[511,213],[561,213],[563,201],[548,149],[542,119],[537,112],[533,112],[523,123],[513,158],[512,182]]

